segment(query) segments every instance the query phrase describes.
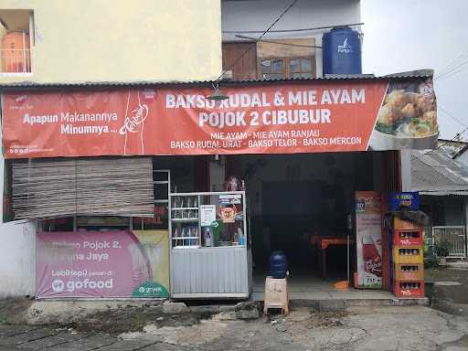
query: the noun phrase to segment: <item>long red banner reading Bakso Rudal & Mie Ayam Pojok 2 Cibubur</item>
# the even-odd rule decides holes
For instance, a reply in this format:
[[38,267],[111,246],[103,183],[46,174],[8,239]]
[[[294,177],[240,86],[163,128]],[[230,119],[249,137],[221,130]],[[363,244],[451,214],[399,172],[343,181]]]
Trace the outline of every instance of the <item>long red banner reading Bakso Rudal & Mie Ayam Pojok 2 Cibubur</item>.
[[250,85],[224,90],[224,101],[208,100],[211,92],[5,93],[5,157],[293,154],[431,148],[437,140],[431,82]]

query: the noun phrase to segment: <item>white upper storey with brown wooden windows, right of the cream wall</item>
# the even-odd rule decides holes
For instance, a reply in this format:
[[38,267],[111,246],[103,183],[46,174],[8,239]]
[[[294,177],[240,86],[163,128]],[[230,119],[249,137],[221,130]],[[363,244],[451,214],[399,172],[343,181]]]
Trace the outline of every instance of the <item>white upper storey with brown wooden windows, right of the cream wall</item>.
[[[231,70],[235,80],[322,77],[324,32],[330,26],[361,22],[358,0],[300,1],[255,44],[287,4],[283,0],[221,2],[223,69]],[[317,29],[291,31],[296,28]],[[359,26],[353,28],[359,30]]]

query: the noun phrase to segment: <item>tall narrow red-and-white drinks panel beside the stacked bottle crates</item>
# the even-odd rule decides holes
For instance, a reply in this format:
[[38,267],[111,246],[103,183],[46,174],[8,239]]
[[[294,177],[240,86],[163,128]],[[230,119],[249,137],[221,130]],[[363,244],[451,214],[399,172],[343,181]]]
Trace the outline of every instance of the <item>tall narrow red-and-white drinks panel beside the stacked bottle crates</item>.
[[382,200],[376,191],[356,191],[357,287],[382,289]]

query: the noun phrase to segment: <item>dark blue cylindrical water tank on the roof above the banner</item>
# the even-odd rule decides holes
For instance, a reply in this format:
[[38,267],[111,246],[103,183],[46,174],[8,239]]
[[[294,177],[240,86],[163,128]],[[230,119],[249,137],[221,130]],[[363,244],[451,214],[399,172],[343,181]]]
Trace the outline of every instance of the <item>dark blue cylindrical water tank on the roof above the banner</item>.
[[361,74],[361,40],[350,27],[335,27],[322,37],[325,74]]

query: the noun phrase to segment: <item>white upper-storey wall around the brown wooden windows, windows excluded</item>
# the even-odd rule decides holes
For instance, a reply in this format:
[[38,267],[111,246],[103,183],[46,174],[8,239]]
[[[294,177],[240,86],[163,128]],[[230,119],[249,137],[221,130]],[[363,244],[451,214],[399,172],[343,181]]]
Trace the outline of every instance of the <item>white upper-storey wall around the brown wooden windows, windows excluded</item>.
[[[290,4],[284,0],[223,1],[221,7],[222,30],[265,30]],[[271,28],[297,29],[309,27],[338,26],[361,21],[358,0],[300,0],[282,19]],[[355,27],[356,28],[356,27]],[[358,29],[358,28],[356,28]],[[315,45],[322,46],[326,30],[314,32],[268,33],[265,39],[314,37]],[[261,33],[242,34],[260,37]],[[223,33],[223,41],[239,41],[235,34]],[[322,76],[322,50],[316,49],[317,75]]]

